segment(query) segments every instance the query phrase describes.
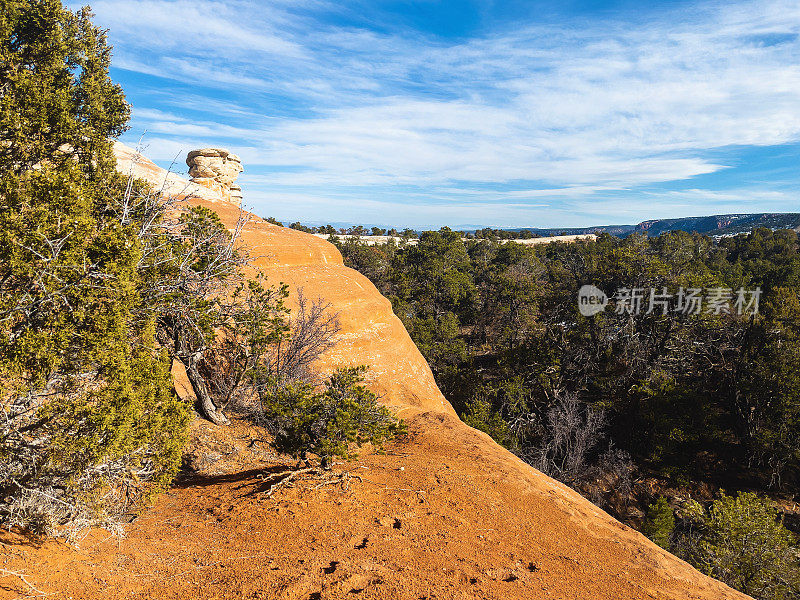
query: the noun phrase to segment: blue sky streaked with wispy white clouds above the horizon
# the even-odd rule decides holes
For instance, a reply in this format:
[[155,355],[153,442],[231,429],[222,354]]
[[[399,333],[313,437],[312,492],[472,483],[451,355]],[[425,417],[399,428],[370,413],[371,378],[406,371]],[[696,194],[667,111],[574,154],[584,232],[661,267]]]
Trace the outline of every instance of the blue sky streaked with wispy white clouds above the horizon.
[[[74,8],[77,5],[72,5]],[[800,211],[800,3],[99,0],[135,145],[305,223]],[[146,132],[146,133],[145,133]]]

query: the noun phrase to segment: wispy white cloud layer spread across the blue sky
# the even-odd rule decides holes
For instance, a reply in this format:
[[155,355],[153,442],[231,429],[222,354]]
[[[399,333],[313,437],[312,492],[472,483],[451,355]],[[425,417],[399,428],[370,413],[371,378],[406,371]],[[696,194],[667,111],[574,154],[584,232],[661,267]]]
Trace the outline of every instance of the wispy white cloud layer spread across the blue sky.
[[[101,0],[94,9],[111,27],[118,66],[224,90],[244,108],[216,122],[137,109],[135,127],[157,136],[156,158],[181,144],[228,144],[246,169],[269,168],[254,185],[307,195],[417,186],[451,198],[458,214],[457,199],[475,186],[498,202],[510,187],[531,201],[591,196],[729,166],[709,150],[800,141],[794,0],[458,43],[336,27],[288,2]],[[179,96],[166,102],[180,111]],[[605,206],[628,214],[627,202]]]

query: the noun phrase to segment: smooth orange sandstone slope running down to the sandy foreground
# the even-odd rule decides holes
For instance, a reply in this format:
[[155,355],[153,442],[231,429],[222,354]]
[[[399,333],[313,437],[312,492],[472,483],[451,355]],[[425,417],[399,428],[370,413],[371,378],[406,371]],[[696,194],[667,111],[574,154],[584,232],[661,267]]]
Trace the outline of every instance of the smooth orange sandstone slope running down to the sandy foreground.
[[[118,146],[123,171],[133,154]],[[149,161],[135,170],[166,178]],[[236,222],[231,202],[166,179],[172,193]],[[334,246],[256,217],[242,243],[268,281],[302,287],[340,313],[322,368],[369,364],[372,389],[406,420],[408,439],[336,465],[353,475],[342,485],[310,481],[265,498],[253,430],[198,422],[196,434],[216,444],[198,461],[238,457],[228,468],[178,483],[123,540],[93,532],[75,550],[0,534],[0,598],[31,593],[2,569],[76,599],[747,598],[463,424],[389,301]]]

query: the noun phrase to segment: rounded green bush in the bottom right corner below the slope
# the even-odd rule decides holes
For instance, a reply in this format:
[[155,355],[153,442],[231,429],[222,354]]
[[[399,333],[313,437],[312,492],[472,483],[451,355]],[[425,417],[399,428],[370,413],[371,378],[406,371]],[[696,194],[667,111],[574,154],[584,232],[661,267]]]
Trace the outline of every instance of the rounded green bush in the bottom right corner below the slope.
[[797,597],[795,539],[768,500],[748,492],[723,495],[701,519],[704,529],[689,553],[699,569],[758,600]]

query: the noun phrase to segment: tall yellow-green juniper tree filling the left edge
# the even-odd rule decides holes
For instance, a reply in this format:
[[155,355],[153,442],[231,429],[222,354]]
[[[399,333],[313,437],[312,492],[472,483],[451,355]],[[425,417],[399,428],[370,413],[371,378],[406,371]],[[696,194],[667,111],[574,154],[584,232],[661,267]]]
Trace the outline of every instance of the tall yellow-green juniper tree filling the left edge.
[[42,532],[163,489],[190,415],[155,343],[153,215],[114,170],[128,106],[89,16],[0,1],[0,523]]

